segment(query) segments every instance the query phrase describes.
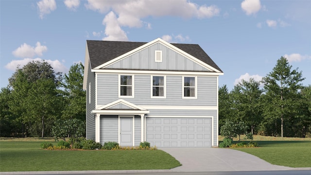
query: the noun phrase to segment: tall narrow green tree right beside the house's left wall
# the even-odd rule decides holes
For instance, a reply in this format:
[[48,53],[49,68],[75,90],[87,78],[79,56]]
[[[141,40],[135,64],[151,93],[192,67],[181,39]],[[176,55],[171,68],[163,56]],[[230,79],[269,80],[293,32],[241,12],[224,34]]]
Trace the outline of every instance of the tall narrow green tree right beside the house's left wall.
[[70,67],[65,74],[63,86],[65,88],[66,105],[62,112],[64,119],[76,118],[86,121],[86,92],[83,90],[84,66],[80,62]]

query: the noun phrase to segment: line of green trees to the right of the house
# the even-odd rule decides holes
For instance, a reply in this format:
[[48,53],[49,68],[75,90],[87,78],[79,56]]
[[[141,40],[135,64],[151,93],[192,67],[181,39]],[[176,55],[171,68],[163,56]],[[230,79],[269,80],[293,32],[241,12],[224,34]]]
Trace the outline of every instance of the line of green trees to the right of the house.
[[219,128],[227,121],[244,122],[252,134],[311,137],[311,85],[302,86],[303,80],[281,57],[260,82],[242,80],[230,92],[220,87]]

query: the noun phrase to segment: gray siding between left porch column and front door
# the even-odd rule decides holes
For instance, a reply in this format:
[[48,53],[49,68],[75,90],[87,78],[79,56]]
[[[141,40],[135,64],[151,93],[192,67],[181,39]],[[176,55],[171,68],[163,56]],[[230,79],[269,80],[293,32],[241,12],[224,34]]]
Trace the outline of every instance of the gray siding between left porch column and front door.
[[118,142],[118,116],[101,115],[100,118],[100,142],[115,141]]

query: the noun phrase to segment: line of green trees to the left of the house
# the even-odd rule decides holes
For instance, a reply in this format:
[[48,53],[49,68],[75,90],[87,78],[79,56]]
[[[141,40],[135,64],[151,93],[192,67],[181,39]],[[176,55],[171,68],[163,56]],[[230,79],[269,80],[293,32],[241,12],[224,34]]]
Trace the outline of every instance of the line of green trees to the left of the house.
[[[53,137],[52,127],[86,121],[86,92],[82,63],[68,74],[54,72],[47,62],[29,62],[9,78],[0,92],[1,137]],[[56,124],[59,123],[60,126]]]

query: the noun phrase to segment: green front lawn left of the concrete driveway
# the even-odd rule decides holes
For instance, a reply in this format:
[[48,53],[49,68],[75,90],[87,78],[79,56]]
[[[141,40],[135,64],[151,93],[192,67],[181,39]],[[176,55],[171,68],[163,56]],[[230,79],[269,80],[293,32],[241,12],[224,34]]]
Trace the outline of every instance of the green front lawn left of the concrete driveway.
[[1,140],[0,171],[159,170],[181,165],[161,150],[44,150],[41,142]]

